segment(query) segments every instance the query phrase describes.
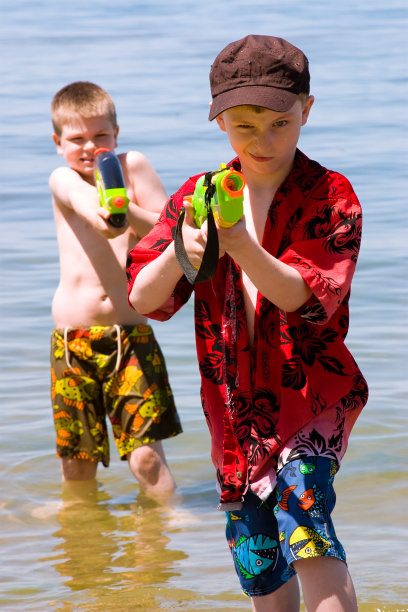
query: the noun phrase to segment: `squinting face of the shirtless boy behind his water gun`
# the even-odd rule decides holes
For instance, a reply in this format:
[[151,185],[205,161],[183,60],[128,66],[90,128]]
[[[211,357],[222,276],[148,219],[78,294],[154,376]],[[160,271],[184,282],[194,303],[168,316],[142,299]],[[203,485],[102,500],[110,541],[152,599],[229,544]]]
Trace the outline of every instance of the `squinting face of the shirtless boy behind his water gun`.
[[61,136],[53,134],[58,155],[87,182],[94,180],[94,152],[99,147],[113,151],[119,128],[106,117],[73,117],[64,124]]

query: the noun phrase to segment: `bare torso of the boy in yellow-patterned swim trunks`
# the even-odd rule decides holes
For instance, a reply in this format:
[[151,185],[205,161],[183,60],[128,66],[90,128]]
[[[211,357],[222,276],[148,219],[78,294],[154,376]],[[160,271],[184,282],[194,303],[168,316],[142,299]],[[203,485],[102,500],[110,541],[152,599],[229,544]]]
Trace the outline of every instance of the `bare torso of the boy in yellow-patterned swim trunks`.
[[127,302],[126,257],[137,237],[128,228],[107,240],[54,200],[60,282],[52,303],[56,327],[134,325],[146,321]]

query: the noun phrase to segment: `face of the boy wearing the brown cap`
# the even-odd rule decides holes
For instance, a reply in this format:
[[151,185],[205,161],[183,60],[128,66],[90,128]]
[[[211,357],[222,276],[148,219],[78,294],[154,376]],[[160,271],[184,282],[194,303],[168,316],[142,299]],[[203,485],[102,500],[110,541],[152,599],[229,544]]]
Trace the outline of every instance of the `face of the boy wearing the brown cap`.
[[290,171],[300,129],[307,121],[313,101],[313,96],[307,100],[298,98],[285,112],[234,106],[216,117],[220,129],[227,133],[244,173],[254,177],[280,177]]

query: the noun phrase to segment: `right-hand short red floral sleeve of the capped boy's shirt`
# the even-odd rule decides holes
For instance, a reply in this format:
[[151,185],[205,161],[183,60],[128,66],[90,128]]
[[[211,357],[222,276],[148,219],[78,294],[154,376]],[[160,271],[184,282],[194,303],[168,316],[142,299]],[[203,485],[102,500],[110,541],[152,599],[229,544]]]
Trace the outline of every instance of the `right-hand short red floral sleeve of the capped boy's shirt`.
[[313,189],[280,260],[296,268],[313,292],[301,315],[325,324],[350,291],[360,249],[362,213],[345,177],[332,173]]

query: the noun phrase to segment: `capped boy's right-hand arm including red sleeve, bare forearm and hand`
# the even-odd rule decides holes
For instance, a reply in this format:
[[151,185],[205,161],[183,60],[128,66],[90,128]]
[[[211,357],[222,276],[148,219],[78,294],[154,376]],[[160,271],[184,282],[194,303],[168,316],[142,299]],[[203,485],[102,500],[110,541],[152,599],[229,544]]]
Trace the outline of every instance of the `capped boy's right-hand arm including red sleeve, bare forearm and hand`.
[[[298,310],[313,295],[323,323],[350,291],[361,225],[361,206],[350,183],[337,173],[324,174],[279,259],[250,235],[245,219],[228,230],[219,228],[220,252],[227,251],[259,292],[282,310]],[[316,309],[313,317],[317,321]]]

